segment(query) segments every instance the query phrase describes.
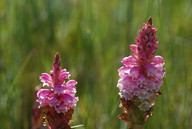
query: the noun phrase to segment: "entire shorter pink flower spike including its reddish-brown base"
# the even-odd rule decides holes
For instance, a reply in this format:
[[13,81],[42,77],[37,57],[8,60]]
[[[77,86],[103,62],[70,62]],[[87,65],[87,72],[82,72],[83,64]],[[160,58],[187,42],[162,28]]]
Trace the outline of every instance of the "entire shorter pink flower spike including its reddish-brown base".
[[78,97],[75,97],[77,82],[75,80],[66,82],[70,76],[66,69],[61,69],[58,52],[55,55],[50,75],[42,73],[40,76],[43,86],[47,85],[51,89],[40,89],[37,92],[37,102],[45,112],[48,125],[53,129],[63,128],[63,126],[70,129],[69,120],[72,118],[78,101]]

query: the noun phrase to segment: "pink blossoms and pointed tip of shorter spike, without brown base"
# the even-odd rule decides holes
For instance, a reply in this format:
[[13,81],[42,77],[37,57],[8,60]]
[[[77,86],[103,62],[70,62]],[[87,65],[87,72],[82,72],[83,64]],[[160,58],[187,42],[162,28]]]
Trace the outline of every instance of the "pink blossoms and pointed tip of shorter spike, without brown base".
[[40,80],[43,86],[48,86],[50,89],[40,89],[37,93],[37,102],[40,107],[53,107],[57,113],[63,113],[73,109],[78,101],[75,97],[77,82],[69,80],[70,74],[66,69],[61,69],[59,53],[55,55],[54,63],[50,74],[42,73]]

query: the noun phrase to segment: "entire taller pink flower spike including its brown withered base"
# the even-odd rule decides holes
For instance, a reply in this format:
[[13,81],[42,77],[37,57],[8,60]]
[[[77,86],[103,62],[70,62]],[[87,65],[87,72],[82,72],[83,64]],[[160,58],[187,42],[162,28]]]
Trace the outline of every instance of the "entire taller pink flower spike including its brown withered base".
[[143,24],[136,37],[136,45],[130,45],[132,55],[122,60],[124,66],[119,71],[120,107],[124,113],[118,117],[129,129],[142,129],[143,124],[153,113],[155,98],[165,77],[164,59],[155,56],[159,42],[152,19]]

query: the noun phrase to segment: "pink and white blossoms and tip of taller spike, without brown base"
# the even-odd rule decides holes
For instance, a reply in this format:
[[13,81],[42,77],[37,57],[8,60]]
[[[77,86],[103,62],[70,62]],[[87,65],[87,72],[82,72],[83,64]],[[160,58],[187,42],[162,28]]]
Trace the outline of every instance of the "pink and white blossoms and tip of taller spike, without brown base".
[[159,42],[156,28],[152,27],[152,19],[143,24],[136,37],[136,45],[130,45],[132,55],[122,60],[124,64],[119,71],[118,87],[120,96],[126,100],[137,100],[140,110],[147,111],[153,105],[162,78],[165,77],[164,59],[154,56]]

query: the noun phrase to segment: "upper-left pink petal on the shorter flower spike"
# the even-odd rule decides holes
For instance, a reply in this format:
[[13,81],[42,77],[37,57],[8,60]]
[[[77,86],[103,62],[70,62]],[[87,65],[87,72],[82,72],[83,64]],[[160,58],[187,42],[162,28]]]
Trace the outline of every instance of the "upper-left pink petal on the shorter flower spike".
[[41,82],[43,82],[43,86],[47,85],[47,86],[53,87],[52,78],[49,74],[42,73],[40,76],[40,80]]

